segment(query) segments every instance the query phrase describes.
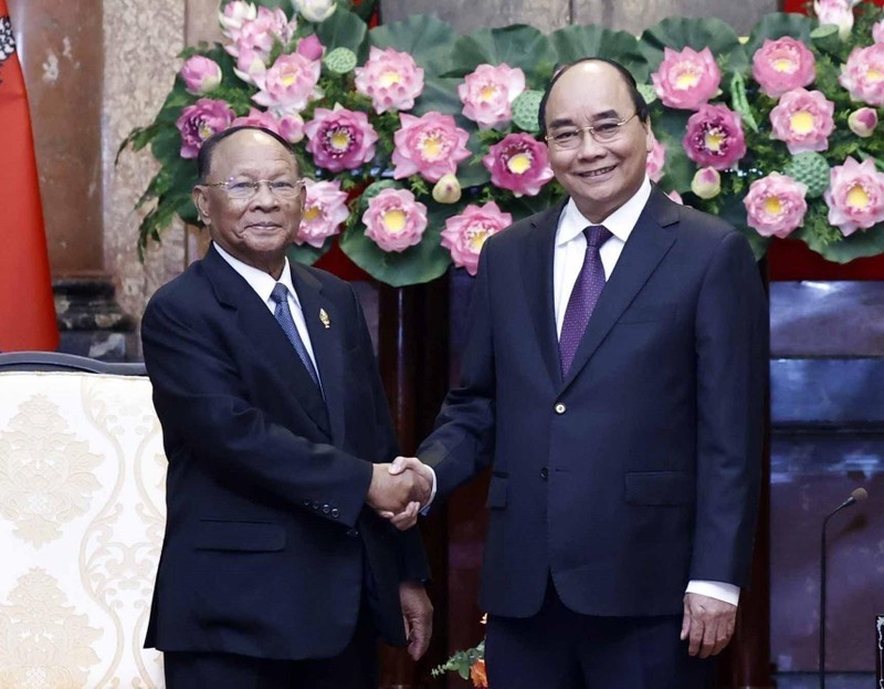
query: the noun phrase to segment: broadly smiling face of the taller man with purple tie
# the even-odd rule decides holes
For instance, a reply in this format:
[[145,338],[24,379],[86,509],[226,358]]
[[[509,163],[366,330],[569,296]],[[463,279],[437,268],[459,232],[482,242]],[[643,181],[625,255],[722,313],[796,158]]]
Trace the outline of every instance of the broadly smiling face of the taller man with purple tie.
[[[546,131],[627,119],[635,113],[623,77],[604,62],[581,62],[552,86],[546,105]],[[651,126],[633,117],[611,142],[599,144],[589,133],[580,145],[562,150],[549,143],[549,165],[577,208],[601,222],[639,190],[648,154],[653,147]]]

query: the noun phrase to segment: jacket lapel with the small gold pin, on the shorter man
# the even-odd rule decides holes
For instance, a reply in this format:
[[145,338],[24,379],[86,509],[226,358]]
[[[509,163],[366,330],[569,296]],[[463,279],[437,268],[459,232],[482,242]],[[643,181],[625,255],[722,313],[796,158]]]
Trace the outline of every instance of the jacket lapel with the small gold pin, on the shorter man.
[[[301,310],[304,312],[316,368],[323,383],[332,440],[335,445],[343,446],[346,430],[341,344],[344,316],[323,292],[323,285],[303,265],[292,262],[291,267],[292,282],[301,302]],[[325,314],[325,317],[322,314]]]

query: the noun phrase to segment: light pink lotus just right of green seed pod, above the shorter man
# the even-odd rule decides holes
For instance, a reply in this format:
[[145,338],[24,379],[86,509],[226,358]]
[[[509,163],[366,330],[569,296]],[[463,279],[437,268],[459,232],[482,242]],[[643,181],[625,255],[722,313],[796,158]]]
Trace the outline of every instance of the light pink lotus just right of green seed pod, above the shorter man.
[[423,92],[423,70],[408,53],[371,46],[365,66],[356,67],[356,91],[371,98],[380,115],[414,107]]

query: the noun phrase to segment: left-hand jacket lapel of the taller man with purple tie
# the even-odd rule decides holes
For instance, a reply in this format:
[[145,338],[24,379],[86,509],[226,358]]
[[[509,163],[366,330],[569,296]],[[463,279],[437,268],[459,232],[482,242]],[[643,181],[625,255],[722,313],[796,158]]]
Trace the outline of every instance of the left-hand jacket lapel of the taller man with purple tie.
[[552,303],[552,258],[556,248],[556,228],[565,202],[557,203],[534,221],[522,254],[526,302],[544,364],[556,385],[561,382],[561,366],[556,336],[556,311]]

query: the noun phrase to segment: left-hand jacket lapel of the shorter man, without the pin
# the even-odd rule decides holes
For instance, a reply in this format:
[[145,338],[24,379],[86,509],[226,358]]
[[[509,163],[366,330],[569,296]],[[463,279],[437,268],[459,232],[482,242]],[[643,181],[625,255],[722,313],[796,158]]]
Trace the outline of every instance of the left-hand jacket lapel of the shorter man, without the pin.
[[280,373],[281,383],[294,393],[294,400],[328,436],[328,414],[323,397],[267,305],[213,248],[202,264],[219,302],[235,310],[238,327],[245,333],[262,359]]

